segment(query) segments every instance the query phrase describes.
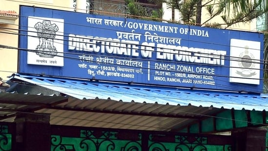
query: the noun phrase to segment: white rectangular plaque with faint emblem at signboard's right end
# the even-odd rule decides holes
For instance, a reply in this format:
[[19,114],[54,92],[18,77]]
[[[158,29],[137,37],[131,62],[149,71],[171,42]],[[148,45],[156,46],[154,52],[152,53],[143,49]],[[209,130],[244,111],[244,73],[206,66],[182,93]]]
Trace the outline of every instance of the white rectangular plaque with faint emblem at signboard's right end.
[[229,82],[260,85],[261,42],[230,39]]

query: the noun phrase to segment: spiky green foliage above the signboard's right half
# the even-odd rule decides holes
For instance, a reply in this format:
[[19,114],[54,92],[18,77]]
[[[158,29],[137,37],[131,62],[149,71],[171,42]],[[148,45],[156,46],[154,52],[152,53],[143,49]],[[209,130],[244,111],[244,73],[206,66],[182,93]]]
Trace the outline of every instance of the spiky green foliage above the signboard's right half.
[[[228,5],[238,4],[238,1],[243,0],[206,0],[205,3],[202,1],[201,7],[206,9],[207,15],[209,16],[205,21],[200,20],[202,14],[201,11],[198,11],[200,0],[166,0],[166,3],[169,8],[179,10],[182,16],[180,20],[186,24],[211,27],[217,25],[218,27],[224,28],[239,22],[251,22],[253,19],[262,16],[268,10],[266,8],[264,9],[260,3],[261,0],[254,0],[254,2],[247,2],[246,0],[245,3],[242,2],[239,4],[239,7],[243,8],[243,11],[232,11],[230,15],[229,11],[226,11],[227,8],[230,8]],[[246,8],[244,8],[245,5],[247,5]],[[224,23],[208,23],[217,16],[220,16]]]

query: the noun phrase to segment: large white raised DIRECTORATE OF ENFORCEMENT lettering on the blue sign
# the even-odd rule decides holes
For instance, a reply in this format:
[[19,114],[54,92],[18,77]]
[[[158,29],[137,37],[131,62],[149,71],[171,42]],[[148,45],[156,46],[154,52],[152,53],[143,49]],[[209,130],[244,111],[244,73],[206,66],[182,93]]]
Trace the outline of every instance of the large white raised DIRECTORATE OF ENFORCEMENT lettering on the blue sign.
[[[139,25],[138,23],[136,23],[136,25],[144,26],[144,24]],[[181,28],[180,30],[184,30],[184,32],[186,32],[186,29],[187,28]],[[203,49],[180,45],[177,46],[163,43],[157,43],[155,46],[155,43],[148,42],[144,42],[140,45],[139,41],[80,36],[73,34],[69,35],[68,44],[69,50],[133,57],[139,57],[141,54],[144,58],[152,58],[152,53],[155,52],[156,59],[209,65],[225,65],[225,56],[227,54],[227,52],[223,50]]]

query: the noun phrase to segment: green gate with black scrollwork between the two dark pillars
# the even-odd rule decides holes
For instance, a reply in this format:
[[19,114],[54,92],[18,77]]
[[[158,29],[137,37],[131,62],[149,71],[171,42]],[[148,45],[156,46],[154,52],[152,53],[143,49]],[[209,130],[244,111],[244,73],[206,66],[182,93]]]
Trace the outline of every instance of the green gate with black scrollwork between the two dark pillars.
[[234,151],[231,136],[51,125],[51,151]]

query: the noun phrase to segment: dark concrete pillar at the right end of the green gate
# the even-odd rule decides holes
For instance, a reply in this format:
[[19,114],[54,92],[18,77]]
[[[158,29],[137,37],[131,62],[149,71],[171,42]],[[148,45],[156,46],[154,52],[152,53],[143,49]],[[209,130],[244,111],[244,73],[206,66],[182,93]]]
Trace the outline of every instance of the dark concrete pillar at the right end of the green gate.
[[235,139],[234,151],[266,151],[265,128],[245,128],[233,130]]

